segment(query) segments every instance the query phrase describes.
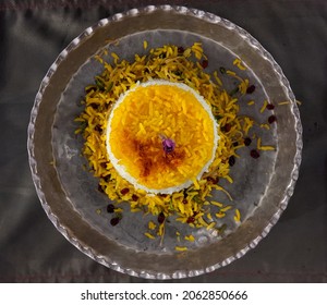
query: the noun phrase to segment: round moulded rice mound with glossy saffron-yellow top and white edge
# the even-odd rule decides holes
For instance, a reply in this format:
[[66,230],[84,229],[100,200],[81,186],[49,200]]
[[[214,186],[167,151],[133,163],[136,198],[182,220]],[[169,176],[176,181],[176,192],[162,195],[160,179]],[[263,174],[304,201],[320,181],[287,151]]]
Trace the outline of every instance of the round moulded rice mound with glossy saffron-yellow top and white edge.
[[[162,149],[164,138],[175,143],[173,151]],[[172,194],[199,180],[218,138],[206,100],[185,84],[162,80],[138,83],[121,95],[107,125],[114,169],[135,188],[154,194]]]

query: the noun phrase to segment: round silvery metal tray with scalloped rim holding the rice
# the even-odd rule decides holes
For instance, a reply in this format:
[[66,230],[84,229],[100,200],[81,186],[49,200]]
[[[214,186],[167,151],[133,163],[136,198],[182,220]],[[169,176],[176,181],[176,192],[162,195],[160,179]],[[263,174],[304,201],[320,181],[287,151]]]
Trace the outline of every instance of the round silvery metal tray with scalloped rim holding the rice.
[[[233,197],[231,205],[242,212],[242,222],[225,220],[228,231],[217,236],[205,229],[194,230],[170,222],[165,243],[144,236],[152,216],[124,212],[124,221],[110,227],[105,213],[98,215],[108,198],[97,191],[97,180],[83,170],[83,141],[74,134],[74,118],[80,114],[84,87],[101,72],[94,56],[108,49],[121,58],[133,59],[149,47],[165,44],[192,45],[201,41],[209,58],[208,72],[220,66],[234,69],[235,57],[246,71],[242,76],[256,84],[254,100],[276,107],[277,124],[269,133],[257,130],[274,152],[258,160],[238,162],[231,175],[233,184],[223,185]],[[232,84],[228,84],[229,86]],[[263,121],[261,105],[241,112]],[[223,267],[267,235],[286,209],[299,174],[302,126],[294,95],[272,57],[249,33],[231,22],[183,7],[147,7],[116,14],[85,29],[57,58],[41,82],[28,125],[28,155],[33,180],[41,205],[60,231],[80,251],[117,271],[148,279],[186,278]],[[223,194],[217,199],[228,202]],[[125,204],[128,205],[128,203]],[[190,251],[177,253],[175,231],[193,234]]]

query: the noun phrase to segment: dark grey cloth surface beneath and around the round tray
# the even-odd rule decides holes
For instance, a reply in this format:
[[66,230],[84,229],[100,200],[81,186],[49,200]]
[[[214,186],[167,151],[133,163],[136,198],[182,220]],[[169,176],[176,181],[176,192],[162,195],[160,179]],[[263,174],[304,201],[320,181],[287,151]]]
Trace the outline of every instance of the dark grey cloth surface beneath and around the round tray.
[[[0,282],[148,282],[93,261],[48,220],[26,150],[29,112],[59,52],[99,19],[147,4],[209,11],[250,32],[290,81],[304,132],[289,207],[259,245],[183,282],[327,282],[327,1],[0,1]],[[178,280],[175,280],[178,282]]]

